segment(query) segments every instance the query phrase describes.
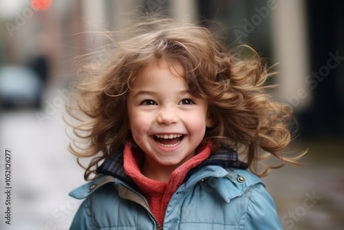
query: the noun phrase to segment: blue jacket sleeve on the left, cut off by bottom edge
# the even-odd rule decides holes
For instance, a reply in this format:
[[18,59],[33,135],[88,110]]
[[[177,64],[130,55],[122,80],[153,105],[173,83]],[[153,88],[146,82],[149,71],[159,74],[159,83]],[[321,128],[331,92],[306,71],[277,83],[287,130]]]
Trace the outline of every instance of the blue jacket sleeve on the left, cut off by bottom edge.
[[78,211],[76,212],[74,219],[72,221],[72,225],[70,226],[69,230],[88,230],[92,229],[90,224],[90,216],[89,216],[89,208],[87,205],[88,199],[84,200],[81,203]]

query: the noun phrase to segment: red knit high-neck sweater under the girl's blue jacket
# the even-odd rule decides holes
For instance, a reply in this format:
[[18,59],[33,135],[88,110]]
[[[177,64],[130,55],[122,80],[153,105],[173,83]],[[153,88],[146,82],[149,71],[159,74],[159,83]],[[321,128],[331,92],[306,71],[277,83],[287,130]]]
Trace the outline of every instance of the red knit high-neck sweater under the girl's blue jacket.
[[138,185],[142,194],[147,199],[153,215],[160,224],[162,224],[164,222],[167,205],[173,193],[182,184],[186,174],[210,156],[211,143],[208,143],[202,151],[198,152],[191,159],[175,169],[167,183],[152,180],[144,176],[140,169],[144,156],[142,153],[131,151],[131,149],[130,145],[125,145],[123,153],[125,173],[136,183],[136,185]]

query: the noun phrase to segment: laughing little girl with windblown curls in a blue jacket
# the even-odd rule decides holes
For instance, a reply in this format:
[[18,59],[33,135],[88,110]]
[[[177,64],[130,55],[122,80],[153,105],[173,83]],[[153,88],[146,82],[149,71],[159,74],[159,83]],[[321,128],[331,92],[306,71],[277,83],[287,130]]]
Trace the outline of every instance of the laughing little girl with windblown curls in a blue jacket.
[[85,198],[71,229],[282,229],[258,177],[271,167],[256,166],[297,163],[281,155],[292,114],[265,92],[257,53],[241,59],[192,23],[129,25],[107,34],[106,58],[85,65],[69,107],[87,143],[70,150],[93,156],[92,181],[70,193]]

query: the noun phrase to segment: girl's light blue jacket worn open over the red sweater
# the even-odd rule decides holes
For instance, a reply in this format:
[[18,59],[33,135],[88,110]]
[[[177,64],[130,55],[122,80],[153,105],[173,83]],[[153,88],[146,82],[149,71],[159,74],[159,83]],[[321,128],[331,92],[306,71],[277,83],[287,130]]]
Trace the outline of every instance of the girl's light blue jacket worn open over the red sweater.
[[[86,198],[70,229],[162,229],[147,200],[125,178],[100,174],[69,195]],[[257,176],[246,169],[205,165],[171,197],[163,229],[283,228],[275,203]]]

